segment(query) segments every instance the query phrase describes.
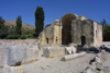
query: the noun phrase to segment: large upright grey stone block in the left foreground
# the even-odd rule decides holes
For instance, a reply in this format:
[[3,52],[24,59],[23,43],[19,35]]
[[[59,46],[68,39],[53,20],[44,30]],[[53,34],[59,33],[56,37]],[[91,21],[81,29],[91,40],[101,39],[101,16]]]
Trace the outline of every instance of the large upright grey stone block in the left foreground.
[[23,59],[21,46],[9,47],[8,52],[8,65],[15,66],[20,65]]

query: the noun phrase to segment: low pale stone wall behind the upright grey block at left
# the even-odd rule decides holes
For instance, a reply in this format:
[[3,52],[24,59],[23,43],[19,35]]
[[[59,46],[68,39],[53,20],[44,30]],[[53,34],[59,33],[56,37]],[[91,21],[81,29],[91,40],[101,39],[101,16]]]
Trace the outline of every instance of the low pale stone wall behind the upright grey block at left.
[[10,46],[22,46],[23,61],[26,63],[38,59],[38,48],[36,45],[23,40],[0,40],[0,66],[7,63],[8,50]]

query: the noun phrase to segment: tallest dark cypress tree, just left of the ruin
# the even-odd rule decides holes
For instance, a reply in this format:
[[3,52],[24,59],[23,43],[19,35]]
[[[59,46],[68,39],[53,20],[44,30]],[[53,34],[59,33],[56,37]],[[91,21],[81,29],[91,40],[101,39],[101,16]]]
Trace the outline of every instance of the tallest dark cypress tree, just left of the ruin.
[[35,11],[35,33],[36,36],[43,31],[44,27],[44,10],[42,7],[37,7]]

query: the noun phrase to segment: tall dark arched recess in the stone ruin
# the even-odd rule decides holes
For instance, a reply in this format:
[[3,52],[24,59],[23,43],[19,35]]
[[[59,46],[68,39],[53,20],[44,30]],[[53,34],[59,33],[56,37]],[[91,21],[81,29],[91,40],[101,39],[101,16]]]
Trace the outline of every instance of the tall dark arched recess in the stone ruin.
[[76,14],[67,13],[62,17],[62,45],[72,42],[72,21],[76,19]]

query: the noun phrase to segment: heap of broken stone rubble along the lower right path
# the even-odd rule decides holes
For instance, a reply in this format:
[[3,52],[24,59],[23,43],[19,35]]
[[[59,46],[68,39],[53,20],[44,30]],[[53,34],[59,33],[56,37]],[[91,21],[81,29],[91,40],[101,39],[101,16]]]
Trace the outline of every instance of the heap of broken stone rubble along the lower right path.
[[105,73],[102,66],[101,57],[106,54],[106,51],[102,50],[100,53],[97,53],[96,57],[90,61],[90,65],[86,68],[82,73]]

